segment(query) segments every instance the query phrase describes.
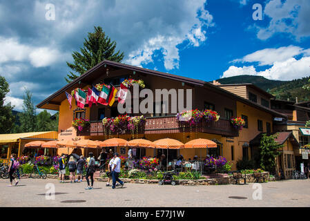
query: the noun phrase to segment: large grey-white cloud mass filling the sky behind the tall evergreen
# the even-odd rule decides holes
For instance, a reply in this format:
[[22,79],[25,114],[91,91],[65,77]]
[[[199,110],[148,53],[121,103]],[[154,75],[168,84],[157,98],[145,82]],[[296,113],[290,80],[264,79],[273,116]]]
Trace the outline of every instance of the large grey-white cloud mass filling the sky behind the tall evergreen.
[[[48,3],[55,5],[55,20],[46,19]],[[0,74],[12,84],[10,97],[21,99],[19,82],[36,85],[30,88],[35,104],[64,86],[66,61],[93,26],[117,42],[124,63],[143,66],[159,53],[171,70],[179,67],[180,50],[203,44],[214,23],[206,0],[1,1]]]

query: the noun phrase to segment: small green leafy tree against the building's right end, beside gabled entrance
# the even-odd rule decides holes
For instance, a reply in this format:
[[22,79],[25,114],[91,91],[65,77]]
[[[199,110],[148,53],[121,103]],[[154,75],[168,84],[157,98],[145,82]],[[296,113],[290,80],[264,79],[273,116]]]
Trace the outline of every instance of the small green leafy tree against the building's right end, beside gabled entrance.
[[260,140],[260,167],[265,171],[273,172],[275,169],[275,157],[280,155],[279,148],[283,145],[275,142],[278,137],[278,133],[274,135],[267,135],[264,133]]

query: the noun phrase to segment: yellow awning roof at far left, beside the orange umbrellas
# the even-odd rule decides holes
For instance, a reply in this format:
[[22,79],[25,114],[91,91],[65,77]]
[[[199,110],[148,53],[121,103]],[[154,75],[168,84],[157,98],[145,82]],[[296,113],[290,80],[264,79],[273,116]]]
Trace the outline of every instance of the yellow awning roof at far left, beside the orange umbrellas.
[[40,138],[57,140],[57,131],[30,132],[30,133],[8,133],[0,134],[0,143],[18,142],[21,138]]

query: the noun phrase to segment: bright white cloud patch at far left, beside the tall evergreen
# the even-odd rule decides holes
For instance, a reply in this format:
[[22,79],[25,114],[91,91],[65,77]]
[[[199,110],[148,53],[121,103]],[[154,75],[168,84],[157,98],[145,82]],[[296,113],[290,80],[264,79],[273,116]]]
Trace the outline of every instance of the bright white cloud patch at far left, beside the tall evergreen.
[[[12,61],[30,61],[32,66],[39,68],[50,66],[64,59],[59,50],[55,48],[28,46],[19,43],[16,38],[0,37],[0,48],[0,64]],[[66,57],[68,57],[67,54]],[[7,67],[11,67],[12,70],[12,66]]]

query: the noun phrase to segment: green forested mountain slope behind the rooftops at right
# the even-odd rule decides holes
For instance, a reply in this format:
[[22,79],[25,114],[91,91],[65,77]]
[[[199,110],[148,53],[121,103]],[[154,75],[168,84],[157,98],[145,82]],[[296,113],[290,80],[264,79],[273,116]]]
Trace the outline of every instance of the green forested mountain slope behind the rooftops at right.
[[302,86],[309,84],[309,79],[310,77],[303,77],[291,81],[276,81],[261,76],[239,75],[217,79],[217,81],[221,84],[251,83],[271,93],[276,99],[287,100],[289,98],[291,101],[295,101],[298,97],[298,102],[306,102],[310,99],[310,91],[304,90]]

